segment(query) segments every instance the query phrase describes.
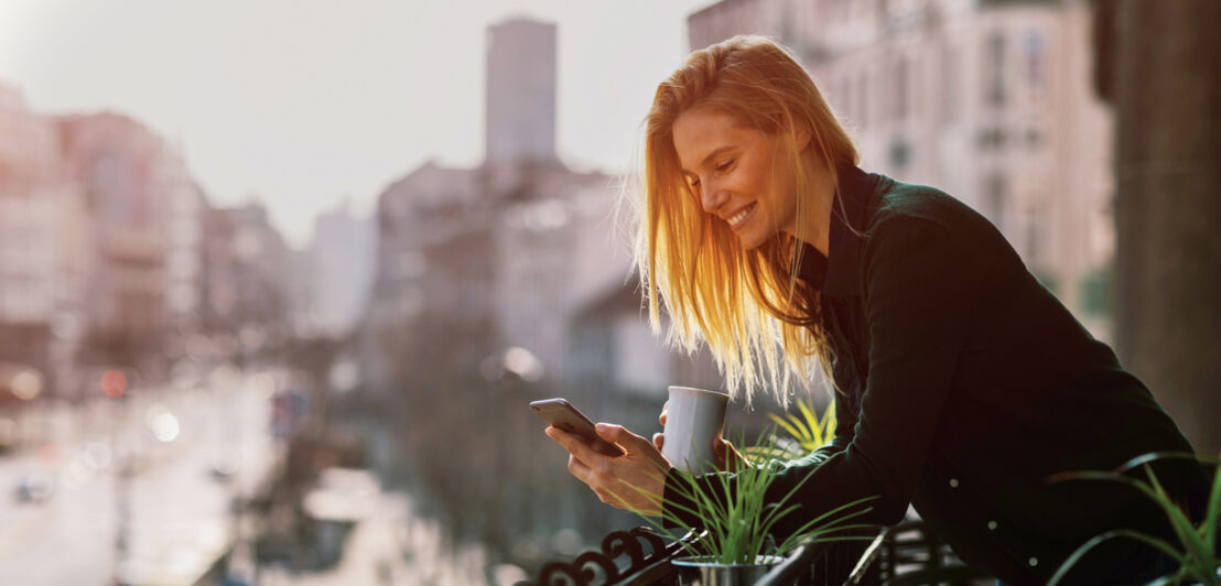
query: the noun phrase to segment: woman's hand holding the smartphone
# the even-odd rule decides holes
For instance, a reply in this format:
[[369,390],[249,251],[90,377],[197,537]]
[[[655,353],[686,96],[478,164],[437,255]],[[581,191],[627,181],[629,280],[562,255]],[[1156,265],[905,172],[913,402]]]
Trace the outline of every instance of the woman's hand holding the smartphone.
[[648,440],[621,425],[598,424],[598,436],[624,449],[623,455],[603,455],[574,433],[553,426],[545,432],[568,450],[568,471],[589,485],[600,501],[645,515],[662,514],[670,463]]

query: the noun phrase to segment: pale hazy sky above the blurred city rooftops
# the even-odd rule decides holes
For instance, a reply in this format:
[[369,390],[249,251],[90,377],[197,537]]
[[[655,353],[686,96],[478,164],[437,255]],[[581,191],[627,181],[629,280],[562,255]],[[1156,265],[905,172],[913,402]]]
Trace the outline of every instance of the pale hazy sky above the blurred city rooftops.
[[422,162],[484,154],[486,28],[559,26],[560,159],[626,170],[657,83],[712,0],[0,0],[0,83],[39,114],[116,111],[176,145],[212,205],[314,217]]

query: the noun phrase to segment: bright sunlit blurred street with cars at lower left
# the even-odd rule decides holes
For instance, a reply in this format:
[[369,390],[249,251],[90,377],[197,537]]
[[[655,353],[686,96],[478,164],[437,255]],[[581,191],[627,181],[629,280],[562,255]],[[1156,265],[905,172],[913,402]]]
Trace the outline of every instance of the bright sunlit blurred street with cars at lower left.
[[[103,585],[116,573],[133,584],[190,584],[231,544],[234,493],[250,491],[276,460],[269,396],[234,380],[193,391],[133,389],[126,404],[56,413],[54,447],[0,458],[0,584]],[[173,437],[158,441],[153,430]],[[125,454],[133,464],[129,553],[116,564],[116,464]],[[215,477],[216,461],[238,463],[236,475]],[[18,501],[15,487],[29,474],[54,479],[54,494]]]

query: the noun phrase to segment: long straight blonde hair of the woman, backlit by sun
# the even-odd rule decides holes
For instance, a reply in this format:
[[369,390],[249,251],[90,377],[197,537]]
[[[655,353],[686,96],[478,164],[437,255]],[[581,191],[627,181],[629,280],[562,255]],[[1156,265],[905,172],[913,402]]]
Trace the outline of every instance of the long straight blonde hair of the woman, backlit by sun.
[[[763,37],[734,37],[692,52],[657,87],[645,118],[635,261],[650,325],[661,332],[664,305],[672,347],[690,354],[703,342],[733,396],[745,394],[750,404],[767,386],[788,404],[794,378],[811,388],[816,361],[830,374],[834,355],[819,292],[796,278],[802,248],[796,238],[779,232],[745,250],[724,222],[703,211],[683,177],[672,136],[674,121],[694,107],[728,114],[778,139],[786,154],[779,160],[794,165],[799,234],[813,233],[812,171],[834,176],[839,165],[857,162],[856,148],[810,74]],[[805,150],[799,128],[810,131]]]

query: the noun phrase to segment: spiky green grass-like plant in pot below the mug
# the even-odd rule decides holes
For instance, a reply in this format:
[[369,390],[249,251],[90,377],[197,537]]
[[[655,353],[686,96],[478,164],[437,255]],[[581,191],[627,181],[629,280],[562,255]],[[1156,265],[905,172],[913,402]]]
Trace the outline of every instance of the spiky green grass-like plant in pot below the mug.
[[[762,437],[767,440],[762,446],[757,447],[769,452],[774,450],[774,437],[767,432]],[[698,526],[692,526],[686,523],[683,515],[673,512],[663,513],[662,519],[689,532],[703,531],[705,534],[698,543],[703,552],[697,549],[692,543],[684,541],[680,541],[680,543],[691,555],[706,555],[713,563],[752,564],[759,555],[784,554],[805,543],[868,540],[871,537],[845,535],[845,532],[875,529],[874,525],[846,523],[872,510],[872,507],[858,508],[858,505],[863,505],[866,502],[877,498],[867,497],[836,507],[811,519],[779,544],[768,547],[770,542],[768,535],[775,524],[800,508],[799,504],[790,503],[790,501],[810,476],[797,482],[779,502],[764,503],[763,496],[775,480],[774,474],[766,464],[744,463],[734,474],[722,472],[707,476],[709,479],[708,486],[712,487],[714,494],[708,494],[701,490],[700,477],[683,471],[678,471],[676,474],[681,479],[681,482],[670,485],[670,488],[678,492],[685,501],[694,503],[694,508],[676,503],[672,503],[672,505],[679,513],[698,519]],[[636,513],[650,525],[664,531],[662,523],[639,510]]]

